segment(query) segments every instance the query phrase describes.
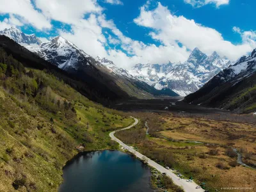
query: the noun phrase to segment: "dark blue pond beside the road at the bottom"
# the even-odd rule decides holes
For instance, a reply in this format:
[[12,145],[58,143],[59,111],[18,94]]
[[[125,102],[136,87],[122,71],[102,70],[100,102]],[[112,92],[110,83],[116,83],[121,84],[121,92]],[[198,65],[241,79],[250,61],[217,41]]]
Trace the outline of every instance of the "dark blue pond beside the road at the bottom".
[[119,151],[89,152],[74,157],[63,168],[60,192],[153,191],[150,168]]

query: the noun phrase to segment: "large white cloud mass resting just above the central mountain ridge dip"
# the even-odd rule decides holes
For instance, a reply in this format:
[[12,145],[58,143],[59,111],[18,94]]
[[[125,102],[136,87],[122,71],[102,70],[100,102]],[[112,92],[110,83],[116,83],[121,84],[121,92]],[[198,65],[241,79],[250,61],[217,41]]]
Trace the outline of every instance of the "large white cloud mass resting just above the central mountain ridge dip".
[[[103,29],[109,29],[105,37]],[[72,26],[72,32],[60,30],[60,35],[70,40],[88,54],[98,55],[112,60],[116,65],[131,68],[137,63],[166,63],[169,60],[184,61],[189,55],[185,47],[178,45],[157,47],[144,44],[125,36],[116,28],[113,20],[106,20],[106,15],[91,14],[88,19],[81,19]],[[109,47],[109,44],[120,44],[122,50]],[[108,51],[106,50],[108,47]]]

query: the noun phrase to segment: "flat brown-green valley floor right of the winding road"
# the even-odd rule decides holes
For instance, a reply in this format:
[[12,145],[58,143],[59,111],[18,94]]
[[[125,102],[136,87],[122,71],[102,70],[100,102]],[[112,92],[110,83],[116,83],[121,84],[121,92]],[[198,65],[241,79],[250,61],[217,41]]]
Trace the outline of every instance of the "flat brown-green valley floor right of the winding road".
[[[236,148],[243,163],[256,167],[256,127],[238,122],[248,116],[205,116],[186,113],[136,112],[140,124],[116,132],[116,137],[162,166],[169,166],[185,179],[193,177],[209,191],[221,188],[256,188],[256,170],[237,163]],[[224,115],[225,116],[225,115]],[[252,119],[253,121],[253,119]],[[149,127],[147,134],[147,126]],[[237,191],[235,189],[229,191]]]

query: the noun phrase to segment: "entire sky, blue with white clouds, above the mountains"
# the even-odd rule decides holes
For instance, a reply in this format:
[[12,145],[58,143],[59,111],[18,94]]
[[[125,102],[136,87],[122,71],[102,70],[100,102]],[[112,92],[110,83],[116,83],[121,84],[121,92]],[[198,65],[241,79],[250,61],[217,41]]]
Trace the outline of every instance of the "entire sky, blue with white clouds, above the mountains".
[[198,47],[236,60],[256,48],[253,0],[0,0],[0,29],[61,35],[120,67],[178,62]]

